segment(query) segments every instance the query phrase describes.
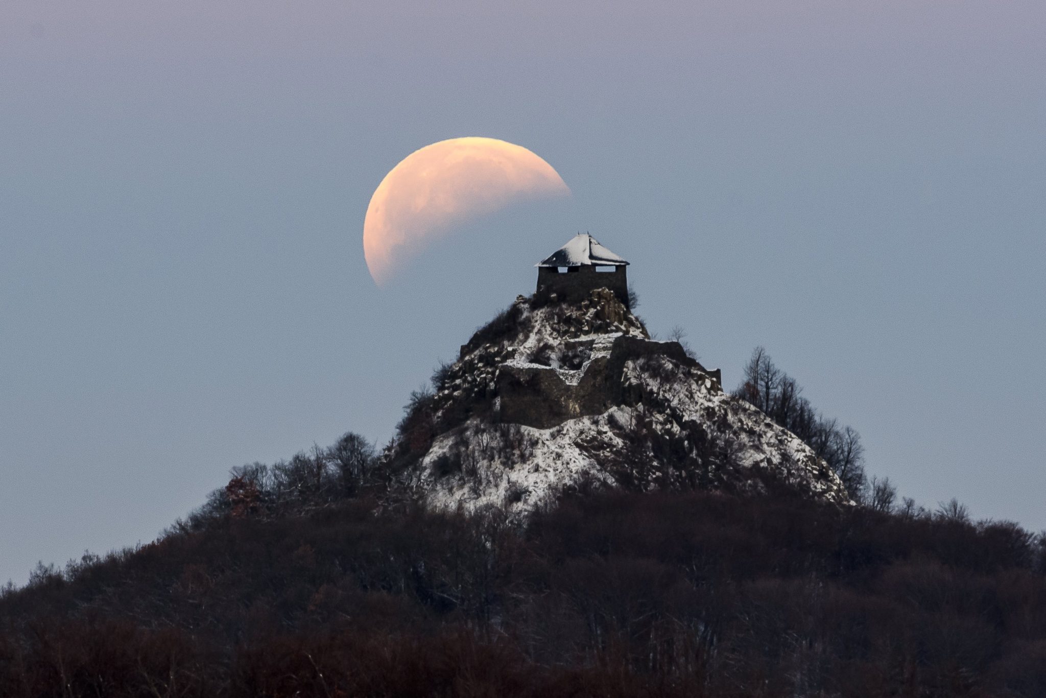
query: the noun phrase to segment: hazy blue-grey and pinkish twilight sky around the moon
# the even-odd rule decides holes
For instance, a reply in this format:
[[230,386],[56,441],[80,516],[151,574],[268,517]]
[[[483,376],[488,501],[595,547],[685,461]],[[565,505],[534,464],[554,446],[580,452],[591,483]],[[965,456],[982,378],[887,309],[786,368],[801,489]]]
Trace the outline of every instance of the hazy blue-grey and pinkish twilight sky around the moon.
[[[3,0],[0,583],[153,540],[411,389],[578,230],[726,387],[756,345],[919,503],[1046,528],[1042,0]],[[378,288],[409,153],[569,200]]]

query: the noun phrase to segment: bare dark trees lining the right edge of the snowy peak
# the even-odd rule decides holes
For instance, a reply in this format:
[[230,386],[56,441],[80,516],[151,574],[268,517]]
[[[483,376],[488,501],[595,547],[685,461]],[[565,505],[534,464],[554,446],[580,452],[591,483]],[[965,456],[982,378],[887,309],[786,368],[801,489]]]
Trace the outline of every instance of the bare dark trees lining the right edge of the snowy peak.
[[734,390],[735,396],[761,409],[814,449],[839,475],[850,497],[864,500],[867,480],[861,435],[852,427],[840,426],[836,420],[820,414],[801,392],[795,379],[775,366],[761,346],[752,352],[744,382]]

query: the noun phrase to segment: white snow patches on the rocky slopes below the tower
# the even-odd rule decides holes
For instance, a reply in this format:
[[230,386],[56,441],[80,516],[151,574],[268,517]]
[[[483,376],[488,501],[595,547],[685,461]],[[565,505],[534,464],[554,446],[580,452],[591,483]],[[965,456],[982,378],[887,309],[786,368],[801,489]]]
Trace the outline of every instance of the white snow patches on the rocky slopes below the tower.
[[[624,322],[608,324],[605,319],[595,321],[599,310],[598,305],[578,308],[568,322],[562,307],[527,309],[531,321],[526,335],[511,344],[484,345],[463,357],[459,365],[469,368],[440,396],[473,395],[470,389],[476,386],[495,389],[497,373],[505,364],[554,370],[565,382],[576,385],[592,368],[593,360],[610,356],[618,337],[654,343],[631,314],[626,312]],[[586,334],[585,329],[592,327],[615,331]],[[531,360],[546,344],[554,350],[550,366]],[[581,368],[560,365],[559,357],[565,350],[586,346],[589,355]],[[608,454],[611,459],[620,456],[629,446],[629,425],[645,422],[658,437],[676,443],[686,440],[687,449],[696,448],[689,440],[699,434],[718,449],[732,476],[744,478],[742,471],[754,469],[770,471],[815,496],[839,503],[849,501],[841,481],[810,447],[757,408],[725,395],[700,368],[654,354],[627,361],[621,381],[630,395],[642,396],[638,403],[569,420],[551,429],[491,424],[473,418],[435,438],[414,468],[411,485],[436,509],[475,511],[496,505],[523,515],[583,477],[614,486],[614,475],[605,467]],[[495,398],[496,407],[499,400]],[[700,427],[697,430],[696,425]],[[440,461],[444,456],[447,460]],[[620,467],[620,457],[617,461]]]

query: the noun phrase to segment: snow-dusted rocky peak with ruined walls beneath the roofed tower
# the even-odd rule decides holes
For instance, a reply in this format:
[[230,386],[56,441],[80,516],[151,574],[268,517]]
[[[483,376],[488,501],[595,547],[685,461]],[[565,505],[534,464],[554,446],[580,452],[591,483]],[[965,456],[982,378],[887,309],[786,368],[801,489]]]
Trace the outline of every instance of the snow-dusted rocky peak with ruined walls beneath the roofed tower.
[[564,490],[788,489],[848,497],[827,465],[723,391],[678,342],[656,341],[613,293],[520,296],[416,397],[386,450],[431,506],[526,513]]

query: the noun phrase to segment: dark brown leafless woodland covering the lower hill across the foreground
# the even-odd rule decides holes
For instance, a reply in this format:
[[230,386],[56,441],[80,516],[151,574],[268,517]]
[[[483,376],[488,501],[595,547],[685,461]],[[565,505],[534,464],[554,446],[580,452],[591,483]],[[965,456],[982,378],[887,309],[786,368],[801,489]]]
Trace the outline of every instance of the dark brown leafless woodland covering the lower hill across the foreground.
[[3,592],[0,695],[1046,695],[1043,539],[958,504],[590,492],[520,530],[363,488],[262,515],[315,457]]

